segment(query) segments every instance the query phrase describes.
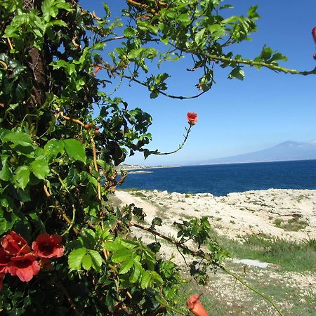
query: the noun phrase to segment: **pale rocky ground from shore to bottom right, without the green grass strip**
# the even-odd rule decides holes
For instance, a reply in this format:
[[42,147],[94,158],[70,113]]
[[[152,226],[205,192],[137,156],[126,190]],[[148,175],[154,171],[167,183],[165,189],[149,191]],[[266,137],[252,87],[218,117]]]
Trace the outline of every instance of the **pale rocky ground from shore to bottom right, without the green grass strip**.
[[[225,197],[213,197],[209,193],[180,194],[177,192],[131,191],[115,192],[121,204],[135,204],[146,213],[145,221],[158,216],[163,225],[159,232],[176,235],[173,222],[208,216],[218,235],[239,240],[246,235],[264,234],[296,242],[316,238],[316,190],[261,190],[230,193]],[[152,235],[135,230],[145,242]],[[176,249],[162,243],[166,258],[184,265]],[[236,259],[236,258],[235,258]],[[251,259],[251,258],[249,258]],[[304,260],[304,258],[302,258]],[[284,315],[316,315],[316,263],[308,272],[284,272],[275,265],[268,268],[249,266],[245,270],[242,261],[228,259],[225,266],[242,275],[247,282],[269,293],[277,300]],[[246,272],[245,272],[246,271]],[[193,284],[193,283],[192,283]],[[197,291],[190,284],[187,291]],[[223,272],[211,277],[211,283],[203,287],[206,296],[215,306],[213,315],[277,315],[270,305]]]

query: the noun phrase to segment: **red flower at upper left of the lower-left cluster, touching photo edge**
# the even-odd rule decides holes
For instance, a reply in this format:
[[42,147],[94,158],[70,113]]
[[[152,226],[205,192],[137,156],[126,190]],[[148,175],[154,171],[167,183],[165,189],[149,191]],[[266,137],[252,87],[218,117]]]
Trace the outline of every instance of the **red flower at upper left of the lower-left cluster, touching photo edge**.
[[1,240],[4,251],[11,256],[28,254],[31,249],[26,240],[11,230],[10,234],[5,235]]

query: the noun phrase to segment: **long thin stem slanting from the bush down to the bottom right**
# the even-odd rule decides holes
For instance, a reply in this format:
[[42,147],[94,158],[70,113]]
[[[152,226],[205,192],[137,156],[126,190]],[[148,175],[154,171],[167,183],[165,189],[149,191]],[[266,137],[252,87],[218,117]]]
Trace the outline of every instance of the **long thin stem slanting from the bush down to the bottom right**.
[[176,242],[175,240],[171,239],[170,237],[162,235],[160,232],[157,232],[156,230],[153,230],[152,228],[146,228],[145,226],[142,226],[142,225],[139,225],[139,224],[136,224],[136,223],[132,223],[132,222],[129,225],[134,226],[136,228],[140,228],[141,230],[146,230],[147,232],[151,232],[153,235],[157,235],[157,236],[161,237],[162,239],[165,239],[168,242],[171,242],[171,244],[175,244],[178,248],[190,252],[190,254],[192,256],[197,256],[199,258],[202,258],[202,259],[204,259],[206,261],[211,262],[211,264],[215,265],[216,267],[220,268],[224,272],[228,273],[228,275],[232,276],[238,282],[243,284],[246,288],[248,288],[251,291],[254,291],[256,294],[260,295],[263,299],[265,299],[265,301],[268,301],[275,308],[275,310],[277,310],[277,312],[279,313],[280,316],[284,316],[282,314],[281,310],[279,310],[279,308],[277,307],[277,305],[275,305],[275,303],[273,303],[271,298],[269,298],[268,296],[263,294],[261,291],[258,291],[257,289],[254,289],[254,287],[251,287],[249,284],[244,282],[238,275],[235,275],[234,272],[226,269],[225,267],[223,267],[223,265],[220,265],[218,262],[213,261],[213,259],[210,258],[209,256],[206,256],[206,254],[204,254],[204,252],[202,252],[202,251],[193,251],[190,248],[188,248],[187,246],[185,246],[184,244],[182,244],[180,242]]

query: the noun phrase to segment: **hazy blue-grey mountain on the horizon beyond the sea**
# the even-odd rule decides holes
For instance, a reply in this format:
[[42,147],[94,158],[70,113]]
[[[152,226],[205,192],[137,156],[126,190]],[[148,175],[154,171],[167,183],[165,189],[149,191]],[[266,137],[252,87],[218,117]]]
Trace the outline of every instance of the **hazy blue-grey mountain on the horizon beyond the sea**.
[[316,159],[316,142],[299,143],[287,141],[258,152],[237,156],[209,159],[198,164],[239,164],[246,162],[280,162],[289,160]]

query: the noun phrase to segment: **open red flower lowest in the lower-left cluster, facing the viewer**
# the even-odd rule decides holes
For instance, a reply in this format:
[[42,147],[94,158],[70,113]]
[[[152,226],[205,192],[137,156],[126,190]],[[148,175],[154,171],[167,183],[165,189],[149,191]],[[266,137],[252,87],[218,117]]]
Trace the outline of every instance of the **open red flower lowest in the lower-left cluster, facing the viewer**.
[[11,258],[11,265],[8,267],[8,272],[15,277],[17,276],[23,282],[29,282],[29,280],[37,275],[40,270],[39,263],[35,260],[37,256],[29,253],[24,256],[15,256]]

